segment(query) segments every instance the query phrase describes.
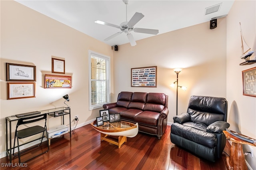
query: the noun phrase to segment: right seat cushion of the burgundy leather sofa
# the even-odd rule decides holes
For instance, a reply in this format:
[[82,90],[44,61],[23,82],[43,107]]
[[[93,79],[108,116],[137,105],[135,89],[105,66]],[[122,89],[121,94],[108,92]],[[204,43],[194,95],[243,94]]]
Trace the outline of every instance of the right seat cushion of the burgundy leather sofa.
[[152,111],[143,111],[142,113],[136,115],[135,121],[138,123],[144,123],[146,125],[156,126],[158,124],[158,118],[160,113]]

